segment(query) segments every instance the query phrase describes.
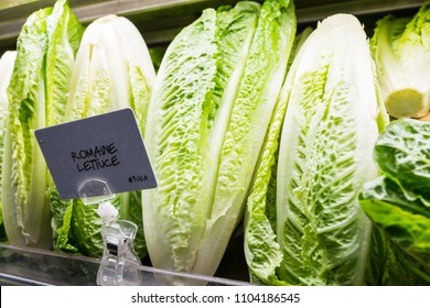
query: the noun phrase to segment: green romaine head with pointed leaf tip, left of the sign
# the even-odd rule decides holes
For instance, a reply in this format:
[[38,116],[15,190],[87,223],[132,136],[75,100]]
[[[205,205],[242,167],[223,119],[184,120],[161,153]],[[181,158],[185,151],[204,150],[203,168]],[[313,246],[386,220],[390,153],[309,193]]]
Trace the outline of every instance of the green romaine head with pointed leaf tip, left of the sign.
[[8,88],[1,199],[9,242],[51,249],[50,176],[34,130],[64,117],[75,54],[84,28],[67,6],[34,12],[17,43]]

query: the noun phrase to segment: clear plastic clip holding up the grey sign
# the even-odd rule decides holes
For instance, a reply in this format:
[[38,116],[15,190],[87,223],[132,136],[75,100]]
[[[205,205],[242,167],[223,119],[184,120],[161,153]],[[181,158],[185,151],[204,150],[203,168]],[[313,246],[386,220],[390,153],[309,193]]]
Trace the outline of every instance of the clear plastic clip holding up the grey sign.
[[128,220],[118,220],[118,210],[110,204],[115,194],[101,179],[88,179],[78,188],[86,206],[98,204],[97,213],[103,219],[104,253],[97,273],[99,286],[138,286],[142,283],[141,262],[133,242],[138,227]]

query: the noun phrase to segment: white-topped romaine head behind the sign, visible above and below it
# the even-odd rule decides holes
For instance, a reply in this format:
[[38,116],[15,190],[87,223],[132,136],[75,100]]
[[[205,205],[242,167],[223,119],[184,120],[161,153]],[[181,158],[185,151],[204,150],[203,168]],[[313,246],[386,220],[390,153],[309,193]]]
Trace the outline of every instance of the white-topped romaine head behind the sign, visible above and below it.
[[[106,15],[85,30],[73,69],[64,121],[131,108],[144,135],[147,112],[155,70],[147,44],[126,18]],[[50,199],[53,211],[54,249],[73,254],[101,256],[104,223],[97,205],[80,199],[62,200],[55,186]],[[118,194],[112,200],[118,219],[138,226],[135,250],[147,255],[140,191]]]

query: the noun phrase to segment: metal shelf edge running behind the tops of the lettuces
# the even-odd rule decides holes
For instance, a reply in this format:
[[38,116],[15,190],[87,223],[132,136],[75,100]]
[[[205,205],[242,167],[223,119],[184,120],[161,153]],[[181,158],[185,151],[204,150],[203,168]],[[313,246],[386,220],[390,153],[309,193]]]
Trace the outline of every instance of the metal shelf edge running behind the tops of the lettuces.
[[[0,51],[14,48],[26,18],[37,9],[52,6],[55,0],[11,0],[11,3],[21,4],[0,7]],[[237,0],[69,0],[72,9],[83,24],[106,14],[123,15],[138,26],[149,45],[170,42],[183,26],[194,21],[203,9],[235,2]],[[423,2],[424,0],[294,1],[300,24],[314,23],[337,12],[372,19],[374,14],[416,9]]]

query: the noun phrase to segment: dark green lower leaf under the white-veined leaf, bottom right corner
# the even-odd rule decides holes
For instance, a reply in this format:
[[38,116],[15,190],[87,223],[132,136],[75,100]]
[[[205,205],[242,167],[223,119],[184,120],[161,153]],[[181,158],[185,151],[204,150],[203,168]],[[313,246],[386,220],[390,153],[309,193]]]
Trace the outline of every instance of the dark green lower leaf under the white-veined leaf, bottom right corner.
[[388,240],[377,248],[377,257],[383,261],[378,284],[429,285],[430,218],[383,200],[366,199],[361,206]]

